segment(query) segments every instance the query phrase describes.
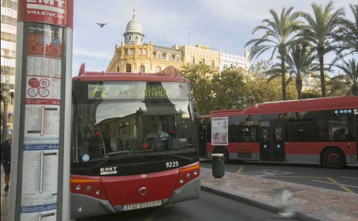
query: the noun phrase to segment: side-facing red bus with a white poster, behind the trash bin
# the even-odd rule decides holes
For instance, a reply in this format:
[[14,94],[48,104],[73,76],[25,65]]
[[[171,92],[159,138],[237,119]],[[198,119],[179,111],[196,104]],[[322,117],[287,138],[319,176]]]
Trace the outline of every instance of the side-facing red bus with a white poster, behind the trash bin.
[[357,133],[357,96],[266,102],[202,116],[199,155],[342,168],[357,163]]

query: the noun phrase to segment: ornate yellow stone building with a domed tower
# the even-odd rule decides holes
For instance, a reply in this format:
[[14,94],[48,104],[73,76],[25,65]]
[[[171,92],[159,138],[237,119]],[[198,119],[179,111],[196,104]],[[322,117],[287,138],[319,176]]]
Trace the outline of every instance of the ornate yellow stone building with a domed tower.
[[174,45],[168,48],[153,45],[152,41],[149,44],[144,43],[145,35],[135,10],[123,35],[124,43],[122,41],[119,47],[115,46],[107,72],[154,73],[170,65],[179,69],[184,64],[195,65],[199,64],[199,61],[219,71],[219,50],[203,45]]

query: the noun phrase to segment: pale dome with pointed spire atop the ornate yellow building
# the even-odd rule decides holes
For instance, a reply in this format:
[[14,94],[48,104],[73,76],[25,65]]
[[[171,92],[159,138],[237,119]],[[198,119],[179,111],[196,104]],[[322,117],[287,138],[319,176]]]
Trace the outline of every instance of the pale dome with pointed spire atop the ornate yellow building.
[[142,24],[140,24],[139,20],[135,16],[135,9],[133,10],[133,18],[128,22],[126,31],[123,34],[125,38],[125,44],[134,44],[135,40],[137,40],[137,44],[143,44],[144,33]]

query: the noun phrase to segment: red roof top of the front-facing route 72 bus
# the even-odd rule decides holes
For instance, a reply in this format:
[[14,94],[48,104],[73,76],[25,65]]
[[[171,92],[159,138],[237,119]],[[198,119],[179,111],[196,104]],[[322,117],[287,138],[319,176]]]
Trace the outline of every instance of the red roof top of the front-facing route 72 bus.
[[78,76],[101,76],[101,75],[126,75],[126,76],[134,76],[134,75],[142,75],[142,76],[160,76],[160,77],[180,77],[178,70],[173,66],[168,66],[164,68],[162,71],[156,73],[126,73],[126,72],[93,72],[93,71],[85,71],[84,63],[79,67]]

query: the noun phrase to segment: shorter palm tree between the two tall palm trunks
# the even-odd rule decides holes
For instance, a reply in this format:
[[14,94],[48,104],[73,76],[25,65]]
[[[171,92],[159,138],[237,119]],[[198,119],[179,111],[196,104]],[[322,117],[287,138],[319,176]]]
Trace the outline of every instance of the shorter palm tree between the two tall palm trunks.
[[[289,53],[286,54],[286,73],[290,76],[286,83],[295,80],[298,99],[301,99],[302,82],[314,71],[318,70],[318,65],[313,63],[313,60],[314,58],[311,56],[307,44],[296,44],[290,49]],[[271,69],[266,72],[266,74],[270,76],[268,81],[281,75],[280,66],[280,63],[275,63]]]

